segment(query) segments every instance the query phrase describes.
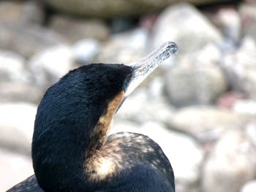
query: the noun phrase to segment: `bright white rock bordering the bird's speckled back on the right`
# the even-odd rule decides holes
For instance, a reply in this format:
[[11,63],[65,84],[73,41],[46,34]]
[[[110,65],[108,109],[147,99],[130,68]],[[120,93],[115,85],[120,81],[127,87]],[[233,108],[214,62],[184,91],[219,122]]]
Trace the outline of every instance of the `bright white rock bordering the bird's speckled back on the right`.
[[[176,177],[176,191],[198,191],[197,183],[200,180],[200,164],[203,160],[203,151],[190,137],[168,131],[160,123],[148,121],[138,126],[127,121],[113,122],[110,134],[130,131],[145,134],[162,147],[165,155],[173,166]],[[189,159],[189,161],[187,161]]]

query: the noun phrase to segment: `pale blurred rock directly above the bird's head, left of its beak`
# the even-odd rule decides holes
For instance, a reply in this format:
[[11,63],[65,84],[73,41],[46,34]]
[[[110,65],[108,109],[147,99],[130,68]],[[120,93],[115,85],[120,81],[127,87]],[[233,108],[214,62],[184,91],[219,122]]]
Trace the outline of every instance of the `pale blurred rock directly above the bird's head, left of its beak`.
[[143,28],[115,34],[102,46],[96,61],[106,64],[129,64],[138,61],[146,55],[147,40],[148,31]]

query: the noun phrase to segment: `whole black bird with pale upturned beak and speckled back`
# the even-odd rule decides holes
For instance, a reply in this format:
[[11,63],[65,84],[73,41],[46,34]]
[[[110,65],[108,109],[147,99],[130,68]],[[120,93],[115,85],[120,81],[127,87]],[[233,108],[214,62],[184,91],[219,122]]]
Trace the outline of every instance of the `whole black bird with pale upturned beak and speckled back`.
[[73,69],[46,91],[37,108],[34,175],[12,191],[175,191],[173,168],[143,134],[108,135],[121,104],[178,50],[166,42],[138,62]]

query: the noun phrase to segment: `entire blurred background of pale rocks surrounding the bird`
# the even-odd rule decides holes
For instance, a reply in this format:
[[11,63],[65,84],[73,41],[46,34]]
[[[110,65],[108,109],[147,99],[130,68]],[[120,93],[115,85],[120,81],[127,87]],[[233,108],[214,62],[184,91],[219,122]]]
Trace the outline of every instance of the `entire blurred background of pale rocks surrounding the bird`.
[[70,69],[179,52],[127,99],[111,132],[147,134],[177,192],[256,191],[256,1],[0,1],[0,191],[33,174],[45,90]]

